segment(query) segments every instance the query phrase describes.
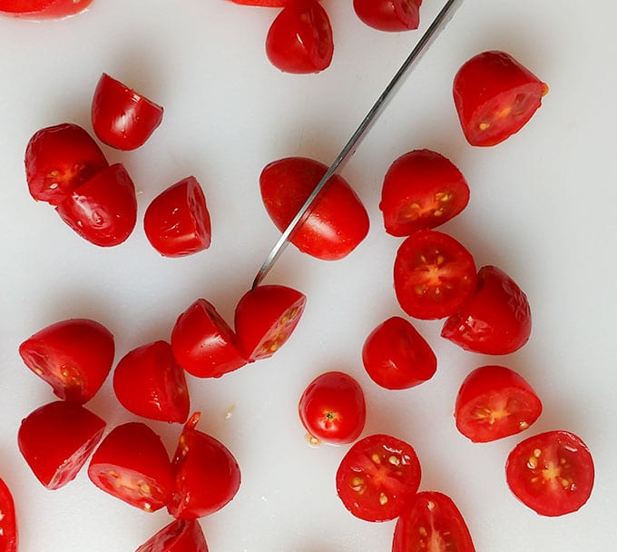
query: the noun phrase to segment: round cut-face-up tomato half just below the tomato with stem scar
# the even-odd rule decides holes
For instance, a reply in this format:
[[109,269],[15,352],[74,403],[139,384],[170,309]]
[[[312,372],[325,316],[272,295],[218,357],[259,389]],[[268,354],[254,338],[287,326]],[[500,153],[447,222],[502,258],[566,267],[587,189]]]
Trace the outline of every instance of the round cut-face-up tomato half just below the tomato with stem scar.
[[337,470],[337,493],[346,508],[366,521],[398,517],[420,485],[420,462],[405,441],[370,435],[357,441]]

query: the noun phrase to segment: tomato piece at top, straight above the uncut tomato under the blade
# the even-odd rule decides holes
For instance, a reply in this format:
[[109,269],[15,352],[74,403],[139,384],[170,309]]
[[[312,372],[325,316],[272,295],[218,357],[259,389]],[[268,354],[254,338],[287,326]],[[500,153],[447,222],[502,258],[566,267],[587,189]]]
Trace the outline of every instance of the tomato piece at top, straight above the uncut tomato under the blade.
[[266,54],[285,73],[318,73],[332,62],[332,26],[318,0],[289,0],[270,25]]

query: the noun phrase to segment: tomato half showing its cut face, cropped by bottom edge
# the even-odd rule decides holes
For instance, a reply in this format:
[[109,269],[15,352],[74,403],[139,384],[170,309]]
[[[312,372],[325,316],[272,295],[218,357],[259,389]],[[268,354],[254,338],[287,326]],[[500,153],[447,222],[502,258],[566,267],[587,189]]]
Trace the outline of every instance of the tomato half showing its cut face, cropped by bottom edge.
[[392,552],[475,552],[474,542],[452,498],[434,491],[418,493],[397,520]]

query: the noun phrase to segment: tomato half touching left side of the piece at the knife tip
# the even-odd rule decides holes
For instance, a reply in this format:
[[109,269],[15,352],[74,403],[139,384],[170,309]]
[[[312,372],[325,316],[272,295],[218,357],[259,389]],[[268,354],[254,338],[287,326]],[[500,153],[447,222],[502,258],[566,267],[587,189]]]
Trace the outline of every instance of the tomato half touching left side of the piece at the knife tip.
[[181,367],[198,378],[219,378],[247,363],[236,334],[214,306],[198,299],[176,320],[171,350]]

